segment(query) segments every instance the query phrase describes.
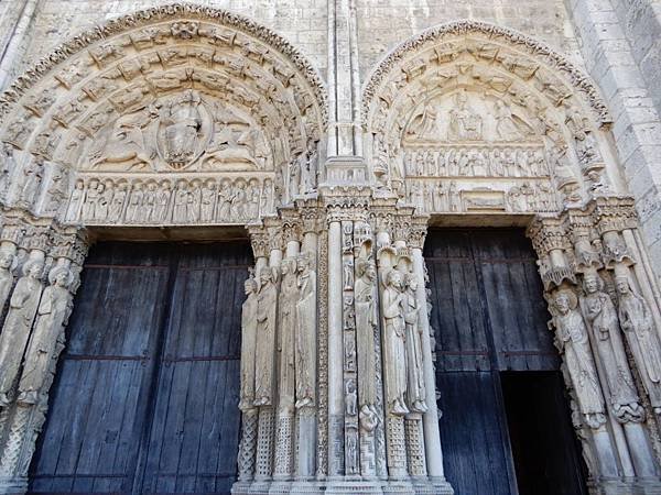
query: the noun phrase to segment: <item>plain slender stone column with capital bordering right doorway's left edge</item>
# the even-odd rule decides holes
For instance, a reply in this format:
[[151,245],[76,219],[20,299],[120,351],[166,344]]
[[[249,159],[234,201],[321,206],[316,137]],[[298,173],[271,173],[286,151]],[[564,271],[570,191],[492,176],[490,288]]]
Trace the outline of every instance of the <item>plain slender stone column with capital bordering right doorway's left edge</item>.
[[427,410],[423,415],[424,448],[426,471],[437,494],[452,494],[454,491],[445,480],[443,470],[443,450],[441,448],[441,431],[438,429],[438,410],[436,406],[436,374],[432,360],[430,315],[427,314],[427,297],[425,290],[425,265],[422,255],[426,235],[426,219],[416,219],[411,231],[410,244],[413,258],[414,276],[421,280],[418,285],[418,304],[420,306],[420,324],[422,327],[422,358],[424,364],[424,383]]

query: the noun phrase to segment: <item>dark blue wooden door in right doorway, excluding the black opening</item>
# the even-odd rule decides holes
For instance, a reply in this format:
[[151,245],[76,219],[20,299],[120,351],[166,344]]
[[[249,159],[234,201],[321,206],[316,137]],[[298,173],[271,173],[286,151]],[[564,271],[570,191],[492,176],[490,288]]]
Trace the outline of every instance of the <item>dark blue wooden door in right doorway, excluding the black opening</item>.
[[560,365],[534,253],[521,230],[443,229],[425,260],[446,476],[457,495],[518,494],[500,372]]

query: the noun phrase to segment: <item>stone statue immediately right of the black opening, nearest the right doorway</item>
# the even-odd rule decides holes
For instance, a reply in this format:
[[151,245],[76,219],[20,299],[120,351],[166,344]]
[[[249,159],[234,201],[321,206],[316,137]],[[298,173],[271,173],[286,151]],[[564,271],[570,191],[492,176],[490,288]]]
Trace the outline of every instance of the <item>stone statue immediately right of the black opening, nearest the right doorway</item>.
[[606,422],[604,398],[597,370],[589,345],[587,328],[577,309],[576,295],[571,290],[560,290],[551,302],[555,343],[564,353],[564,362],[570,372],[572,385],[585,422],[590,428],[599,428]]

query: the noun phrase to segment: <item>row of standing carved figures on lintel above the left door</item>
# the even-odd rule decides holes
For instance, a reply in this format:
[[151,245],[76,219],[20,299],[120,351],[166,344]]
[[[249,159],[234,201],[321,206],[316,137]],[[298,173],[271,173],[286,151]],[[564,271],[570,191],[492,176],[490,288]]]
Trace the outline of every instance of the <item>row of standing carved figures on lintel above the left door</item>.
[[273,180],[267,178],[78,179],[66,208],[67,222],[241,223],[275,212]]

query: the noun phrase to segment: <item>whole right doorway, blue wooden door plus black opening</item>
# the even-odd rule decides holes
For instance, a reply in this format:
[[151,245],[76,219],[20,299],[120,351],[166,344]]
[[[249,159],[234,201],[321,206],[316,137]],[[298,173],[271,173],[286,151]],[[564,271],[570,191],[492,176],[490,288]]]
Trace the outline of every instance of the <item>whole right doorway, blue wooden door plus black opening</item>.
[[455,493],[586,493],[550,315],[523,231],[431,230],[424,256],[444,468]]

